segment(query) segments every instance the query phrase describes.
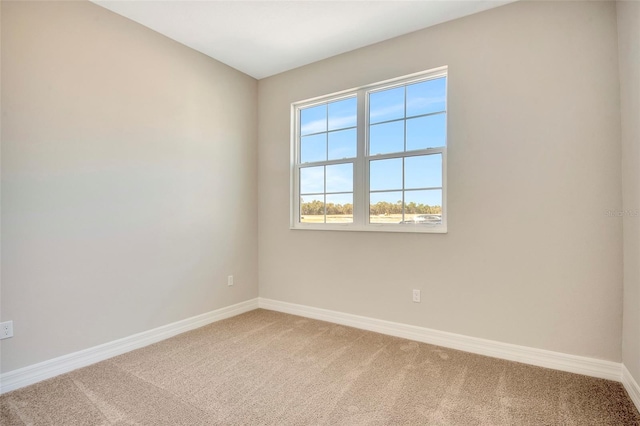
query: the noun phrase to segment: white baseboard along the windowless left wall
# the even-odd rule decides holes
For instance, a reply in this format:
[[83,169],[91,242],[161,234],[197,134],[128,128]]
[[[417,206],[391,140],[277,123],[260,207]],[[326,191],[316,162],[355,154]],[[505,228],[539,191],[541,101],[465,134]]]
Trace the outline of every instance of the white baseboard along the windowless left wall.
[[18,370],[0,375],[0,394],[68,373],[77,368],[86,367],[99,361],[121,355],[134,349],[168,339],[180,333],[205,326],[249,312],[258,308],[258,299],[251,299],[235,305],[216,309],[205,314],[196,315],[181,321],[163,325],[162,327],[134,334],[113,342],[63,355],[48,361],[33,364]]

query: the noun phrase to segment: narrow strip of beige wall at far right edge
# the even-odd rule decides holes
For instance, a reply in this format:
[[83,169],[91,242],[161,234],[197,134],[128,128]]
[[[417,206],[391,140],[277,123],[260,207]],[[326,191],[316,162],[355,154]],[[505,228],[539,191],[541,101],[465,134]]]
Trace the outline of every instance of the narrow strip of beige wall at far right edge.
[[640,383],[640,3],[621,1],[617,8],[624,212],[622,361]]

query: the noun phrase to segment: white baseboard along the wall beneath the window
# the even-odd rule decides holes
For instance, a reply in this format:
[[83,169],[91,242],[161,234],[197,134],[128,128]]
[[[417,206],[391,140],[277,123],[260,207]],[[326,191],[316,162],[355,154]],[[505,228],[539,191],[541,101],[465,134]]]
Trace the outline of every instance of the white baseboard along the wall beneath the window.
[[[554,370],[584,374],[601,379],[621,381],[622,364],[527,346],[502,343],[494,340],[479,339],[461,334],[432,330],[424,327],[384,321],[327,309],[280,302],[259,298],[259,306],[264,309],[299,315],[323,321],[329,321],[363,330],[375,331],[396,337],[416,340],[432,345],[458,349],[479,355],[517,361]],[[631,377],[631,376],[629,376]],[[637,385],[636,385],[637,389]]]

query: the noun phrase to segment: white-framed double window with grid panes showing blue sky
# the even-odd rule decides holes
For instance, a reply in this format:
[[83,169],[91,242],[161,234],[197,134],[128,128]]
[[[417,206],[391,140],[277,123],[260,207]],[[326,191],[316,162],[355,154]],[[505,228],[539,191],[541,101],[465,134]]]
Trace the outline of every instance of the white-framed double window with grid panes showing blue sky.
[[446,232],[447,69],[292,105],[291,227]]

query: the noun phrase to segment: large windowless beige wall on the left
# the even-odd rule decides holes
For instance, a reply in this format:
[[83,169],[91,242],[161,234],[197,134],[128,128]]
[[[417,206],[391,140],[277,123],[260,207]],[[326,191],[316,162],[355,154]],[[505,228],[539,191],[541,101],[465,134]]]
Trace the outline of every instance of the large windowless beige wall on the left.
[[88,2],[3,1],[2,87],[3,372],[257,296],[254,79]]

